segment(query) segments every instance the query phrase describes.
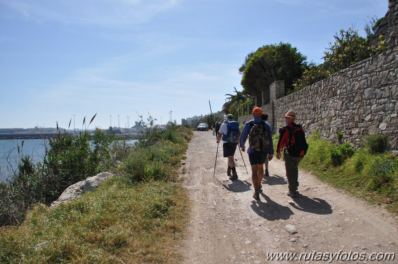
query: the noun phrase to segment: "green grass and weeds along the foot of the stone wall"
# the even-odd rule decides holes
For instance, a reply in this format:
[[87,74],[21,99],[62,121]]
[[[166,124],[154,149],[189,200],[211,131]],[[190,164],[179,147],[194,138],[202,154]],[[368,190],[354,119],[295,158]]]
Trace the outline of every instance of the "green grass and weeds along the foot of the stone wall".
[[[276,146],[278,135],[273,139]],[[331,186],[398,215],[398,157],[386,151],[386,139],[381,134],[368,135],[356,150],[348,143],[321,139],[314,132],[307,138],[309,148],[300,167]]]

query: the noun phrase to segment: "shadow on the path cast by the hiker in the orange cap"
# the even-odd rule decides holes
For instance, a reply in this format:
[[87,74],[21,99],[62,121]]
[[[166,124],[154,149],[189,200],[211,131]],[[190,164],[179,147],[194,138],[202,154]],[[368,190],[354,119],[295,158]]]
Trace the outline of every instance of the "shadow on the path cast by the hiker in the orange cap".
[[264,217],[268,221],[275,221],[275,220],[287,220],[293,215],[293,211],[287,206],[282,206],[274,201],[272,201],[268,196],[264,193],[260,193],[261,199],[265,198],[264,200],[255,200],[252,201],[250,205],[259,216]]

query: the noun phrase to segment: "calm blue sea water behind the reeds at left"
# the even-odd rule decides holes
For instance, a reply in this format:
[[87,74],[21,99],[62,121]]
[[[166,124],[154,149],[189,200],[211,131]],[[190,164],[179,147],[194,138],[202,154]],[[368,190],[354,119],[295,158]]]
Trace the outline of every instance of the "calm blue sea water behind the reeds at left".
[[[127,140],[126,143],[133,144],[135,141]],[[12,175],[22,155],[29,155],[34,163],[42,162],[46,146],[49,147],[48,139],[0,139],[0,181]]]

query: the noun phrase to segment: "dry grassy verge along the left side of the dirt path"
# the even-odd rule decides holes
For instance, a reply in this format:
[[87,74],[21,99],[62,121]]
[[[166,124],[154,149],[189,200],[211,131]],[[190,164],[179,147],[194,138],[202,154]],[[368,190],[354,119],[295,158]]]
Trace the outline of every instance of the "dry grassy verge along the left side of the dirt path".
[[98,156],[115,174],[99,188],[54,208],[30,201],[23,221],[1,227],[0,263],[176,263],[189,217],[178,175],[192,131],[151,121],[142,121],[147,131],[134,149],[119,144]]

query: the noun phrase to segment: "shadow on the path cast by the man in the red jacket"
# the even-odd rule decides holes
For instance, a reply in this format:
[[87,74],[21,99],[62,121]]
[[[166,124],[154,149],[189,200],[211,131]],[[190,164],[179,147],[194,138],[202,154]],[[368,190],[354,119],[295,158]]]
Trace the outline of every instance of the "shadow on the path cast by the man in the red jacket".
[[302,194],[292,199],[294,202],[289,202],[289,204],[297,210],[318,215],[329,215],[333,213],[332,206],[325,200],[319,198],[311,199]]

